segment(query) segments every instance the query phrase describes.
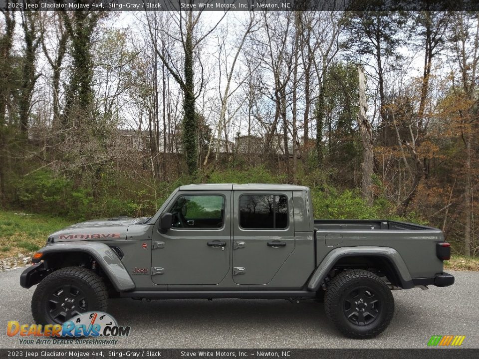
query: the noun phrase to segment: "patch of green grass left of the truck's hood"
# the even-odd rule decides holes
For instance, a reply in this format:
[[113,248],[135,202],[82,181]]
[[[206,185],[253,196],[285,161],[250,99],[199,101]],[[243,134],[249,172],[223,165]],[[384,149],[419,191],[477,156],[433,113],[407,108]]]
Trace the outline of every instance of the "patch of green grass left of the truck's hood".
[[72,222],[42,214],[0,210],[0,259],[19,253],[29,256],[46,243],[46,238]]

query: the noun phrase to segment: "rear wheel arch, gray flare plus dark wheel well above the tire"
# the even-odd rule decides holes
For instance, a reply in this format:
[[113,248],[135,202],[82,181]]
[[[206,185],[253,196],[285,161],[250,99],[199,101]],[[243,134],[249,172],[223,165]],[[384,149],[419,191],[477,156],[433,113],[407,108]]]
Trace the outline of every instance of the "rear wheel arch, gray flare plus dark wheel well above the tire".
[[[365,268],[373,265],[381,269],[390,282],[403,289],[414,287],[413,280],[401,255],[390,247],[341,247],[333,249],[322,260],[308,281],[307,288],[317,291],[327,275],[347,265],[350,268]],[[351,267],[352,265],[352,267]]]

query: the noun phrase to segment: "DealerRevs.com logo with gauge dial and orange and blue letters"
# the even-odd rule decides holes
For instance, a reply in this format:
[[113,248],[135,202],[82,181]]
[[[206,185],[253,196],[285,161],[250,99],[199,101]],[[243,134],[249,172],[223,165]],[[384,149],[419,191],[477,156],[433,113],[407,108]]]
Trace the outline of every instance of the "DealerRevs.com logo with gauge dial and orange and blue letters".
[[18,336],[20,344],[116,344],[118,337],[128,337],[130,327],[118,326],[116,320],[103,312],[88,312],[71,318],[62,325],[7,323],[6,335]]

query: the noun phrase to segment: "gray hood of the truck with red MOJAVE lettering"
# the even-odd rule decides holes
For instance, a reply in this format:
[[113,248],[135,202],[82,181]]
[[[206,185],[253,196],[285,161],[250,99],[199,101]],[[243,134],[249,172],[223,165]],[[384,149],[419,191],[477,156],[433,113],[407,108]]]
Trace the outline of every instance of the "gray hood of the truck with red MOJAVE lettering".
[[128,226],[143,223],[146,219],[146,217],[114,217],[75,223],[50,234],[47,243],[126,239]]

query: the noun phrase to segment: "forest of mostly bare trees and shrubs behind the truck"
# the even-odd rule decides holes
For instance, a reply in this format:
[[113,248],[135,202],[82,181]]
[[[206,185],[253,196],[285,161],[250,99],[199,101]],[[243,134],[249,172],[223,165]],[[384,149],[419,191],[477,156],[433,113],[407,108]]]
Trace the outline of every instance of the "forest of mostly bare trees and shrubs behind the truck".
[[0,208],[148,216],[185,183],[296,183],[317,218],[479,256],[478,15],[3,9]]

